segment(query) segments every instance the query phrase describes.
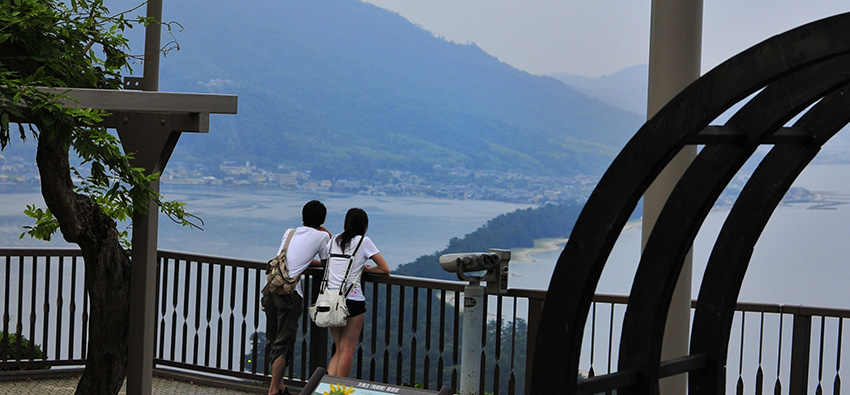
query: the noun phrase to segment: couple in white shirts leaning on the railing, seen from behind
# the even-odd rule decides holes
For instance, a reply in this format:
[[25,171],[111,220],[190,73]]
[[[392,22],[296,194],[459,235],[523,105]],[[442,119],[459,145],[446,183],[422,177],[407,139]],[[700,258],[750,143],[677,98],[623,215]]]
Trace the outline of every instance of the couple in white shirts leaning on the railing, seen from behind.
[[[388,274],[390,269],[366,230],[369,217],[359,208],[348,210],[342,233],[332,235],[324,226],[327,209],[317,201],[301,210],[303,226],[284,232],[278,255],[269,261],[262,308],[266,313],[266,356],[271,361],[269,394],[286,394],[283,380],[293,362],[304,291],[301,274],[309,266],[324,266],[319,296],[310,306],[310,317],[330,329],[335,352],[328,374],[348,377],[366,313],[360,284],[363,272]],[[318,259],[316,259],[318,257]],[[366,265],[372,260],[375,266]]]

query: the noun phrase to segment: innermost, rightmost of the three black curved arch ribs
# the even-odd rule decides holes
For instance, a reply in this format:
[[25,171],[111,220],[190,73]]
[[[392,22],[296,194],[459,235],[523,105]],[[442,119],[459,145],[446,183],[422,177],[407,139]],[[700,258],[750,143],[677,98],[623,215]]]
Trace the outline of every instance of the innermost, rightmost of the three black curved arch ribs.
[[753,249],[782,197],[821,146],[850,123],[850,85],[825,97],[794,124],[809,144],[775,146],[760,162],[729,212],[709,257],[691,332],[691,354],[709,365],[692,372],[689,393],[722,393],[723,365],[735,303]]

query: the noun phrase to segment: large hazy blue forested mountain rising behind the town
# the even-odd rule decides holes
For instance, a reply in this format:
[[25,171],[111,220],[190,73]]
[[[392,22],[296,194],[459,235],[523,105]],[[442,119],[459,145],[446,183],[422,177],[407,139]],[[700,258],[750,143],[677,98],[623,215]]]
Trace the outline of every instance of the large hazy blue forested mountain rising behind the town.
[[172,162],[601,174],[643,122],[356,0],[181,0],[163,19],[183,29],[160,90],[239,95],[238,115],[184,134]]

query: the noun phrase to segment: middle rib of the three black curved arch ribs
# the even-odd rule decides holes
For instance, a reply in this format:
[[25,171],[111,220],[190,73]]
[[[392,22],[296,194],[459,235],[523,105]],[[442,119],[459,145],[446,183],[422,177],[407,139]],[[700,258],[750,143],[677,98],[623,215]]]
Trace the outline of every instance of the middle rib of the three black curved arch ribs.
[[844,55],[771,83],[726,124],[741,136],[741,142],[705,146],[682,175],[655,222],[635,274],[623,319],[618,369],[641,375],[637,385],[619,393],[658,391],[661,344],[673,290],[685,255],[723,189],[767,138],[848,80],[850,56]]

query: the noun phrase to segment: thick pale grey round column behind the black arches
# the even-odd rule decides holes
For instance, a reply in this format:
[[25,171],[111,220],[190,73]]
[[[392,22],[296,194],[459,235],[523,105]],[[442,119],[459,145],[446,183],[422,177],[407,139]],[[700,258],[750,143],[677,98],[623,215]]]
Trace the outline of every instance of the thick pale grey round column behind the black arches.
[[[700,76],[702,51],[702,0],[652,0],[649,41],[649,92],[647,118]],[[696,157],[696,147],[682,150],[644,195],[642,246],[667,197]],[[688,253],[673,295],[661,359],[688,353],[693,253]],[[679,375],[661,380],[662,395],[686,394],[687,380]]]

